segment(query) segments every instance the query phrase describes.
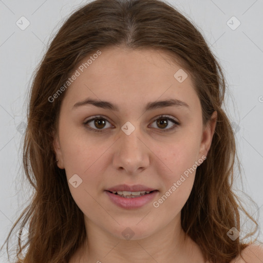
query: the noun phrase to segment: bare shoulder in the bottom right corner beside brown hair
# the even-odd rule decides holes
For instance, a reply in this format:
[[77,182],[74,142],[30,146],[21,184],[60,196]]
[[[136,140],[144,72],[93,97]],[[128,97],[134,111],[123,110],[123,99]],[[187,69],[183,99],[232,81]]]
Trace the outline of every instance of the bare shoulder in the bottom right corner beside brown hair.
[[[232,260],[230,263],[262,263],[263,262],[263,246],[262,245],[249,245],[242,253],[242,257]],[[245,260],[244,260],[245,259]]]

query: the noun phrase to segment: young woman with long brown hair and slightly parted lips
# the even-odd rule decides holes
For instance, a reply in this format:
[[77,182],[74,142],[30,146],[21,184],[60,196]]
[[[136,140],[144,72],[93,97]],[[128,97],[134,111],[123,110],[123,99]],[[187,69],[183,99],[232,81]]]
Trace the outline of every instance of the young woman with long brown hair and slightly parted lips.
[[24,168],[35,195],[17,263],[262,262],[239,236],[240,211],[258,225],[232,192],[225,89],[173,7],[97,0],[74,12],[34,76]]

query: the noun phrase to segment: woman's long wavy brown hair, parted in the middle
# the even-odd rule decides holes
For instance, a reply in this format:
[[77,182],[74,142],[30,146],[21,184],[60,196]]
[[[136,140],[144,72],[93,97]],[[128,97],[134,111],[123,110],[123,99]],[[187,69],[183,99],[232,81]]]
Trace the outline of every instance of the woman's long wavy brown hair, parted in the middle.
[[[171,55],[191,74],[201,102],[203,126],[217,111],[207,159],[196,171],[193,190],[181,211],[182,228],[206,259],[227,263],[248,246],[227,232],[240,230],[243,209],[232,189],[234,163],[241,174],[234,132],[222,109],[226,83],[222,69],[199,30],[170,4],[158,0],[97,0],[74,12],[63,24],[37,68],[30,90],[23,166],[33,186],[32,201],[12,227],[28,223],[28,239],[17,238],[17,263],[68,262],[86,238],[82,211],[74,202],[65,170],[58,168],[53,135],[66,90],[50,102],[78,63],[104,48],[155,49]],[[70,86],[68,87],[70,88]],[[3,248],[3,247],[2,247]],[[22,259],[23,251],[24,259]],[[21,254],[22,253],[22,254]]]

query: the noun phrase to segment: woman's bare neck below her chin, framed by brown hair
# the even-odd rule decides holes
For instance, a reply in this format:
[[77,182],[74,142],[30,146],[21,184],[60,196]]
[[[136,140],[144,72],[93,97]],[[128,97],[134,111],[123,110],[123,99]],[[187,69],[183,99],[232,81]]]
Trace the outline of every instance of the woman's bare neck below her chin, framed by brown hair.
[[[120,239],[85,218],[87,239],[78,260],[90,262],[204,262],[200,248],[181,228],[180,216],[154,234],[140,239]],[[74,257],[76,258],[76,257]]]

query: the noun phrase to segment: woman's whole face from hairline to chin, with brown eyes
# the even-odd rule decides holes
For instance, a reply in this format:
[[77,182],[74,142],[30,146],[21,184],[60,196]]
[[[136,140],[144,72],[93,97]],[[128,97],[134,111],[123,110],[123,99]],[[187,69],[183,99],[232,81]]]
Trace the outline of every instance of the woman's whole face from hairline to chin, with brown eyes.
[[[80,75],[65,91],[54,149],[86,228],[140,239],[180,219],[215,122],[203,129],[190,74],[165,53],[101,52],[75,69]],[[130,197],[138,192],[144,195]]]

